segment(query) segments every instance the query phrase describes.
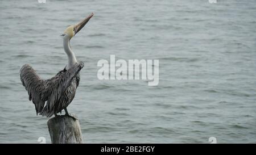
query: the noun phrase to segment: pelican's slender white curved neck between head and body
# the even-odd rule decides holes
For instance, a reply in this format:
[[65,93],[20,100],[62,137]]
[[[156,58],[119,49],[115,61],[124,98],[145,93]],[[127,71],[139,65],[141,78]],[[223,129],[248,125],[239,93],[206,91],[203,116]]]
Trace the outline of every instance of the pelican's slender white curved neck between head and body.
[[69,44],[70,39],[71,39],[71,37],[69,35],[65,35],[63,38],[64,51],[67,53],[67,56],[68,56],[68,65],[66,66],[67,70],[69,68],[72,68],[72,66],[75,65],[77,62],[75,53],[72,51],[70,44]]

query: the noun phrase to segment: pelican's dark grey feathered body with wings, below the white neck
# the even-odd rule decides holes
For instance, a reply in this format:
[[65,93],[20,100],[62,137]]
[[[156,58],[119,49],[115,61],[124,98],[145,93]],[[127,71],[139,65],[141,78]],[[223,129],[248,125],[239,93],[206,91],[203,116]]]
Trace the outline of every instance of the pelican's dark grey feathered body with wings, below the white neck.
[[42,79],[30,65],[23,65],[20,80],[28,91],[28,99],[35,104],[36,114],[50,117],[67,108],[75,97],[83,67],[84,63],[79,62],[68,70],[61,70],[55,77]]

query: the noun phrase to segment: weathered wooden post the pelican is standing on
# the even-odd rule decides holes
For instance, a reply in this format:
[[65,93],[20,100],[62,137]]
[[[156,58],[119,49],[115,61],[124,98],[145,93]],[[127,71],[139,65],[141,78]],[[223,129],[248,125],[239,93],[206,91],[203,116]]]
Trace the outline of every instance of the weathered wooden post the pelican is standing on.
[[65,115],[55,116],[48,120],[47,125],[52,144],[82,143],[82,132],[78,119]]

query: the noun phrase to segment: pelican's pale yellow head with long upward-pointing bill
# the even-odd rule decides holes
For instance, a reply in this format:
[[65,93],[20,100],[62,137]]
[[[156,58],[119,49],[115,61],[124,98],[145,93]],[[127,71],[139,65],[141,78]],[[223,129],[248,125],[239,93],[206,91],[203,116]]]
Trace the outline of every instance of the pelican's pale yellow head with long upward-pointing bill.
[[84,20],[82,20],[81,22],[69,26],[68,28],[66,28],[66,30],[64,31],[63,35],[68,35],[70,38],[72,38],[73,36],[76,35],[77,32],[79,32],[82,27],[85,26],[85,24],[90,20],[90,18],[92,18],[94,14],[90,14],[87,18],[85,18]]

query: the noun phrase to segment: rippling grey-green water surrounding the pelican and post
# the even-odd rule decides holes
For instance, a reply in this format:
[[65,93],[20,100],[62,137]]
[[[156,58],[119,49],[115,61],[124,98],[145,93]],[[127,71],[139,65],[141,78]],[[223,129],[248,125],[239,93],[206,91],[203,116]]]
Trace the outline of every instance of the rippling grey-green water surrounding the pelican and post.
[[[51,143],[19,78],[85,62],[68,111],[84,143],[256,143],[256,1],[0,1],[0,143]],[[159,85],[97,78],[98,60],[159,60]]]

